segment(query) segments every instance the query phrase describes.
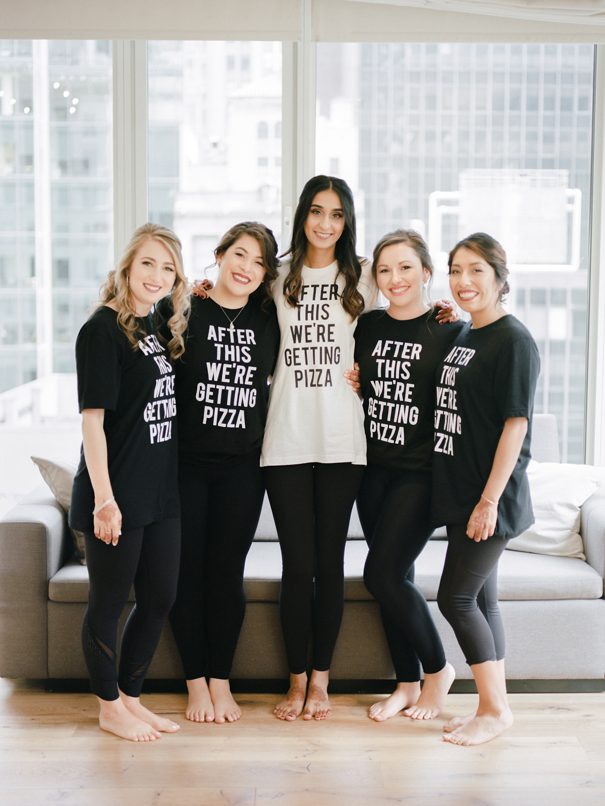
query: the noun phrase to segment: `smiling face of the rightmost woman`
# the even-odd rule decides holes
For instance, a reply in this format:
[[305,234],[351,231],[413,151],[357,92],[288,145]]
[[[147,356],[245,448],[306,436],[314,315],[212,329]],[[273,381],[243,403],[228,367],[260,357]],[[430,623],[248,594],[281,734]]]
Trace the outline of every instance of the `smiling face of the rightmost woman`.
[[466,247],[453,256],[449,287],[457,304],[471,316],[502,308],[494,268]]

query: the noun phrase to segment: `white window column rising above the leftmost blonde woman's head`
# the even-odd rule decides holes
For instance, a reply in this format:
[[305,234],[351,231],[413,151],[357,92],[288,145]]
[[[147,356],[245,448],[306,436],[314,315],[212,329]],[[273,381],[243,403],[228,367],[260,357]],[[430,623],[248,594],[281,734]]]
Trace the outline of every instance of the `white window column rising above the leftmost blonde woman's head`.
[[147,221],[147,42],[114,39],[114,256]]

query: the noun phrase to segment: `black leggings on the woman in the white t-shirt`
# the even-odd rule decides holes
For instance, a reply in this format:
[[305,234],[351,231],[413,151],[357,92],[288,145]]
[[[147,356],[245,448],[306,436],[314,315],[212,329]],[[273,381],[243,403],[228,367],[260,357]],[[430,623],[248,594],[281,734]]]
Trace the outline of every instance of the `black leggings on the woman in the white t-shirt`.
[[344,607],[344,544],[363,465],[286,464],[264,467],[282,548],[279,614],[290,672],[328,671]]

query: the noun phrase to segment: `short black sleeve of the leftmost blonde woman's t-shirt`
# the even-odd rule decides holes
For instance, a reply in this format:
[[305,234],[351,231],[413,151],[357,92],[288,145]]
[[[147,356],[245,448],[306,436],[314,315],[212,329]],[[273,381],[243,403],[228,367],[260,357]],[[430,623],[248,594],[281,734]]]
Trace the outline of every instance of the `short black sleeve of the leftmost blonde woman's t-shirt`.
[[[77,398],[83,409],[115,411],[123,347],[96,322],[86,322],[76,341]],[[117,336],[118,334],[116,334]]]

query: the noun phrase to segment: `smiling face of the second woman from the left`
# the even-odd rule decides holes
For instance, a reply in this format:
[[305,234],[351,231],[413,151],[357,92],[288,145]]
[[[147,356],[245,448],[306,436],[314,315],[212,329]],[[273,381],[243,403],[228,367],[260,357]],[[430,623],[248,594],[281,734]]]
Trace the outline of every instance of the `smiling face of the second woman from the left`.
[[221,295],[232,298],[236,303],[234,307],[245,305],[265,276],[261,245],[252,235],[240,235],[216,262],[220,267],[216,289]]

